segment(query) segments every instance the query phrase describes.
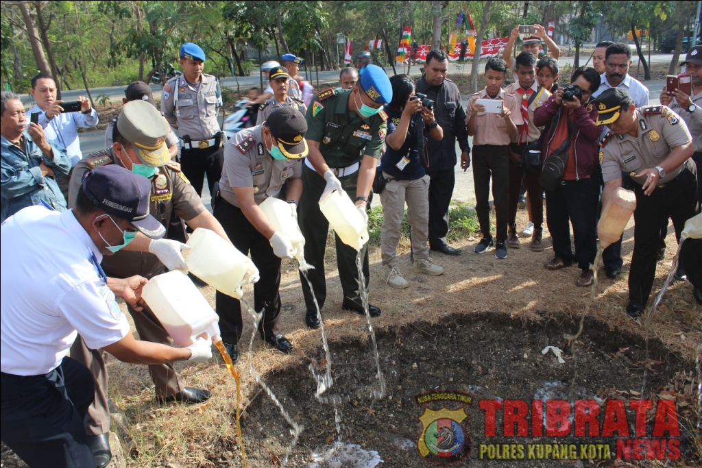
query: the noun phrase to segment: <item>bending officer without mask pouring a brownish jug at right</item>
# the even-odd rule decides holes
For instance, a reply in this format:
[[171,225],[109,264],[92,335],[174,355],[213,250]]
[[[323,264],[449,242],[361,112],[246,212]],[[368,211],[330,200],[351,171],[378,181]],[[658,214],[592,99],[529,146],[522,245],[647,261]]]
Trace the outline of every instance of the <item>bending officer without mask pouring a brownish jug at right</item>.
[[621,187],[622,171],[635,182],[634,253],[626,312],[636,317],[642,314],[653,288],[661,226],[672,218],[675,236],[680,239],[685,221],[696,213],[692,139],[675,112],[660,105],[637,108],[622,88],[604,91],[594,105],[597,125],[611,131],[600,142],[602,209],[616,187]]

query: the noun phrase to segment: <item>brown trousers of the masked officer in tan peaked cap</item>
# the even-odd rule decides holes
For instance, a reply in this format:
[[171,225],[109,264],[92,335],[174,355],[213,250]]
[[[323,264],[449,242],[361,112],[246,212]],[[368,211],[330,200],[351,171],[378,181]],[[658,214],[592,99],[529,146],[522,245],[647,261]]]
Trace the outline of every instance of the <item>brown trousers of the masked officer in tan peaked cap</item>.
[[[161,322],[154,316],[151,309],[144,307],[137,312],[127,306],[134,319],[134,325],[139,333],[140,340],[162,345],[173,345],[168,332],[161,326]],[[93,374],[95,380],[95,401],[88,408],[88,422],[86,432],[88,436],[97,436],[110,431],[110,407],[107,403],[107,366],[105,366],[105,352],[102,349],[89,349],[81,335],[71,347],[71,357],[82,363]],[[184,388],[180,374],[176,372],[171,363],[152,364],[149,373],[156,385],[156,396],[165,398],[181,392]]]

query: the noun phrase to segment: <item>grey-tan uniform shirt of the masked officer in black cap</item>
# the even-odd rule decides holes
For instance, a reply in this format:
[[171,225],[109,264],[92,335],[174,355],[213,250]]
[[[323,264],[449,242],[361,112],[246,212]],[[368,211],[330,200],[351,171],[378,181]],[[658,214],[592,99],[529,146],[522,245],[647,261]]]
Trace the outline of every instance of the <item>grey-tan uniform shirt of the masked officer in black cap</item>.
[[266,146],[260,125],[240,131],[227,142],[219,184],[223,199],[241,207],[232,187],[253,187],[253,200],[260,205],[279,196],[287,180],[302,177],[301,159],[273,159]]

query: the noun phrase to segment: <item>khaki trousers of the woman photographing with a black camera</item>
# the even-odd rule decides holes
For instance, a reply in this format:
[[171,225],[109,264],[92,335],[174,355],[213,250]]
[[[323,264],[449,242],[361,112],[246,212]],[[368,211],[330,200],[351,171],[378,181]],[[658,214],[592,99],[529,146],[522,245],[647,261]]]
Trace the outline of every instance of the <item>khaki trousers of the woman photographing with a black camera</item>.
[[[388,173],[383,173],[383,176],[392,178]],[[429,258],[429,176],[425,175],[415,180],[390,180],[380,194],[380,203],[383,203],[383,226],[380,228],[383,265],[395,264],[405,202],[414,258]]]

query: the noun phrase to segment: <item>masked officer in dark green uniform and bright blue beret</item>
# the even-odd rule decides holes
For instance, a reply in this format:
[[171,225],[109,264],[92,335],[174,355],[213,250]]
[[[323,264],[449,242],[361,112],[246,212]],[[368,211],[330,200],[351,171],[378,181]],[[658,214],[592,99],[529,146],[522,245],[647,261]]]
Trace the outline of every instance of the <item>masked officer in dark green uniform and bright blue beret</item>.
[[[390,79],[382,68],[367,65],[359,82],[350,90],[328,89],[317,93],[307,109],[307,145],[310,154],[303,168],[303,196],[300,199],[300,230],[305,236],[305,260],[314,266],[307,272],[319,307],[326,299],[324,250],[329,222],[319,210],[319,201],[333,190],[346,192],[368,222],[366,206],[376,175],[377,159],[385,141],[388,116],[383,106],[392,100]],[[357,250],[336,236],[336,258],[345,310],[365,314],[356,267]],[[361,249],[366,288],[370,280],[368,246]],[[319,328],[317,309],[307,281],[302,278],[307,307],[305,323]],[[369,306],[371,316],[380,309]]]

